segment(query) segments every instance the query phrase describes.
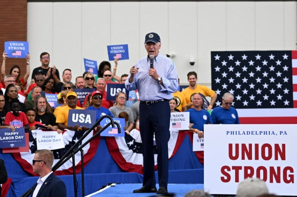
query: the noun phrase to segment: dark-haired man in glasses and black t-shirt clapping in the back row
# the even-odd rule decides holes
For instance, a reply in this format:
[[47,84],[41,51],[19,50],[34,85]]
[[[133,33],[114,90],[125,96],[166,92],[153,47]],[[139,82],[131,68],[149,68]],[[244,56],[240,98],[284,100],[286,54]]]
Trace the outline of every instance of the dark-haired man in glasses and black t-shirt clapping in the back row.
[[[41,66],[34,68],[32,71],[32,79],[36,81],[35,75],[37,74],[38,70],[43,70],[46,76],[46,79],[51,75],[52,71],[52,76],[53,79],[55,80],[56,84],[60,82],[60,75],[58,69],[56,69],[56,66],[50,67],[50,54],[47,52],[43,52],[40,54],[40,62]],[[51,69],[50,69],[51,68]]]

